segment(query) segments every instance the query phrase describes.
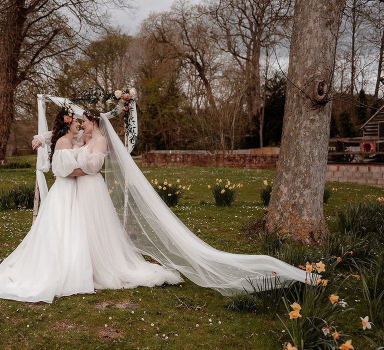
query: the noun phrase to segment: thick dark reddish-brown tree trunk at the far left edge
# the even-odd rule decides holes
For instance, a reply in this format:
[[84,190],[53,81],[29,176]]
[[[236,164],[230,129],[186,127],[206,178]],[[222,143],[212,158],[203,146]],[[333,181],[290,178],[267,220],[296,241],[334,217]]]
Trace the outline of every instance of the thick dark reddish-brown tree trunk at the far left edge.
[[1,16],[0,40],[0,164],[5,163],[6,145],[14,115],[14,92],[19,84],[17,66],[26,10],[24,0],[8,1],[12,5]]

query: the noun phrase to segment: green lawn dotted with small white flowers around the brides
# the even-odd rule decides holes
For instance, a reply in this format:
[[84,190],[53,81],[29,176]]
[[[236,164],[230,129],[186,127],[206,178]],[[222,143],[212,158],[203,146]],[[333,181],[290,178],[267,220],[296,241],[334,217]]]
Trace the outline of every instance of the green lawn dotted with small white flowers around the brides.
[[[35,164],[35,156],[11,160]],[[15,182],[34,184],[33,166],[11,171],[1,169],[0,189],[9,188]],[[172,210],[193,232],[199,230],[198,236],[208,244],[236,253],[258,252],[258,246],[247,240],[241,226],[263,213],[258,192],[264,179],[269,182],[273,178],[273,170],[197,167],[147,167],[142,170],[148,179],[175,181],[180,178],[182,183],[191,184],[190,190]],[[207,184],[212,184],[216,177],[244,185],[237,189],[238,197],[232,207],[214,205]],[[50,174],[47,180],[51,185]],[[324,205],[330,228],[334,227],[337,209],[349,201],[384,196],[382,188],[335,182],[329,185],[337,188]],[[31,221],[31,209],[0,211],[0,259],[17,246],[28,232]],[[361,329],[359,317],[367,314],[362,294],[354,279],[346,286],[342,297],[355,310],[338,320],[339,329],[351,335],[356,349],[367,349],[369,345],[362,335],[372,336],[373,331]],[[0,299],[0,348],[282,348],[286,338],[277,318],[239,313],[228,310],[226,305],[225,297],[218,292],[188,280],[177,286],[98,290],[94,294],[56,298],[52,304]],[[280,316],[285,317],[284,314]],[[209,325],[209,318],[212,325]]]

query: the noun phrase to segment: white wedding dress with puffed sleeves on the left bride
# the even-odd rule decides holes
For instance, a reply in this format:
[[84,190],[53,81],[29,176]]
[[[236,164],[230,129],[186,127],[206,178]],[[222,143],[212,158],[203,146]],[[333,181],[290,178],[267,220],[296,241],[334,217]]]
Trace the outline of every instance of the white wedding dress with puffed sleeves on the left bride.
[[56,180],[30,231],[0,263],[0,298],[51,302],[54,296],[94,291],[76,179],[66,177],[78,167],[75,153],[72,149],[54,152]]

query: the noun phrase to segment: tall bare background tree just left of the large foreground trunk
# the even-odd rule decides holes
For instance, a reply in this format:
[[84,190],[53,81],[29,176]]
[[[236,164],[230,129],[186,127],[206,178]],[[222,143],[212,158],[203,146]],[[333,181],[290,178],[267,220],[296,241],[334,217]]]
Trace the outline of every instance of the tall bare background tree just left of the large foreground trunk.
[[260,147],[263,145],[260,55],[262,49],[271,51],[272,46],[282,45],[289,36],[289,4],[290,1],[281,0],[213,0],[211,3],[216,20],[212,39],[222,51],[232,55],[242,71],[248,126],[251,132],[258,131]]

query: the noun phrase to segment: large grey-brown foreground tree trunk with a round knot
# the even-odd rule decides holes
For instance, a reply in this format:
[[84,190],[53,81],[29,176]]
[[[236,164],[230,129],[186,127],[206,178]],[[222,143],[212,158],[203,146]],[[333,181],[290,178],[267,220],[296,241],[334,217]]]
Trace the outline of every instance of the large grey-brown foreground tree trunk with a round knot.
[[329,140],[330,85],[345,0],[294,5],[283,132],[267,227],[317,243],[327,231],[322,210]]

